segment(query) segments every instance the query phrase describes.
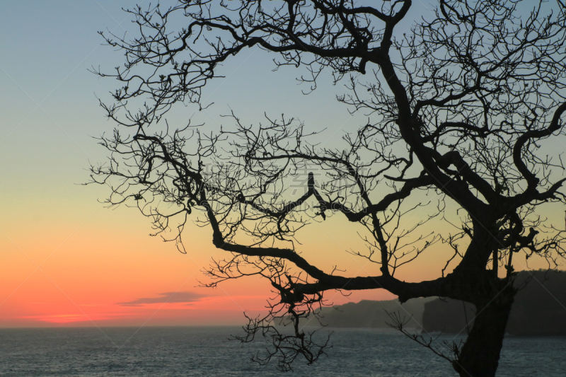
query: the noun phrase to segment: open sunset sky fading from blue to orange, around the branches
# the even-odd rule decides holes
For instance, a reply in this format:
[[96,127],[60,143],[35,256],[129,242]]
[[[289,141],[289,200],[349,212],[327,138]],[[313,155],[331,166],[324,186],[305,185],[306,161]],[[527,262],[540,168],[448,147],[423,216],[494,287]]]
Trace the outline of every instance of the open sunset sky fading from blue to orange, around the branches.
[[[106,156],[93,137],[113,127],[97,97],[115,83],[88,69],[122,64],[97,32],[132,30],[120,8],[134,4],[0,0],[0,327],[243,324],[244,311],[261,313],[273,296],[255,278],[200,287],[203,267],[223,255],[207,229],[189,226],[187,254],[179,253],[149,236],[151,224],[136,209],[101,204],[108,187],[81,185],[90,164]],[[305,97],[294,80],[300,74],[273,72],[271,59],[244,51],[222,68],[226,79],[204,91],[209,110],[181,108],[174,116],[214,131],[230,110],[248,123],[284,113],[325,129],[328,145],[356,129],[362,120],[335,101],[340,86],[322,81]],[[360,245],[353,238],[351,224],[330,219],[313,225],[302,248],[327,271],[379,274],[379,266],[347,253]],[[398,277],[434,279],[447,255],[437,248]],[[327,296],[337,304],[394,297],[382,290]]]

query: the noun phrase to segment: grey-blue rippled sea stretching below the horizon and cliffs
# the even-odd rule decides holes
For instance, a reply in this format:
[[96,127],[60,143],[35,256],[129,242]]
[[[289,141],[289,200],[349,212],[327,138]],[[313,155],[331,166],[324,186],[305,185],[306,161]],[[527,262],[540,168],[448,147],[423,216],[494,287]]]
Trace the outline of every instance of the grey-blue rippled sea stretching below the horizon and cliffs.
[[[281,376],[226,342],[238,327],[0,330],[0,376]],[[337,329],[328,357],[287,376],[454,376],[444,359],[397,332]],[[444,336],[440,340],[452,340]],[[508,337],[498,376],[566,376],[566,337]]]

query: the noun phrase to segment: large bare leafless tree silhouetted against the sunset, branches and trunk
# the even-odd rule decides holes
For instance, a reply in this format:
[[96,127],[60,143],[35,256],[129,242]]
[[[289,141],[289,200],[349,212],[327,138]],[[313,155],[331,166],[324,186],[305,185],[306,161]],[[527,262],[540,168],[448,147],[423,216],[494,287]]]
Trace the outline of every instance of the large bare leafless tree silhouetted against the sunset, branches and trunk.
[[[540,255],[550,268],[565,256],[563,232],[540,206],[565,202],[562,160],[541,147],[565,135],[566,4],[439,0],[432,13],[412,19],[410,0],[361,3],[181,0],[129,10],[135,38],[101,33],[125,53],[125,65],[113,74],[94,70],[120,86],[112,103],[101,102],[117,126],[100,139],[110,161],[92,167],[93,180],[120,180],[108,203],[135,201],[156,233],[173,234],[168,239],[182,251],[188,219],[211,229],[212,243],[230,257],[207,269],[210,286],[250,275],[270,281],[277,294],[270,313],[250,318],[239,338],[271,340],[256,357],[261,363],[276,358],[287,370],[298,356],[311,364],[324,354],[327,342],[300,323],[316,315],[326,291],[386,289],[401,302],[443,296],[473,303],[477,313],[461,346],[442,351],[411,336],[461,376],[495,376],[516,293],[514,255]],[[401,33],[401,23],[412,26]],[[164,116],[173,105],[201,106],[219,65],[253,46],[275,53],[277,67],[306,69],[301,79],[313,90],[330,70],[335,83],[346,82],[337,100],[376,121],[346,134],[342,148],[317,146],[316,133],[285,117],[248,127],[232,113],[233,127],[219,134],[169,128]],[[289,197],[287,178],[301,171],[309,172],[306,192]],[[322,175],[315,180],[313,172]],[[424,194],[436,198],[436,211],[417,226],[400,226],[424,205]],[[299,236],[327,216],[359,224],[367,249],[354,254],[379,264],[379,276],[343,276],[308,261]],[[450,221],[456,230],[423,233],[426,221]],[[441,277],[395,278],[398,267],[442,244],[454,256]],[[291,334],[275,327],[281,318]]]

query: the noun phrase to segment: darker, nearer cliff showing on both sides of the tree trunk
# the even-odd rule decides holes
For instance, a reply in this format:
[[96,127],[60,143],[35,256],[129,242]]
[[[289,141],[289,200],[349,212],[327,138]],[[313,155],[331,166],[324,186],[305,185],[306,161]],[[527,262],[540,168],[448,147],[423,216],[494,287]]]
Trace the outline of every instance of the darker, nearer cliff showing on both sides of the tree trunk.
[[[530,279],[530,281],[529,281]],[[528,282],[526,286],[525,282]],[[566,335],[566,272],[521,271],[506,332],[520,336]],[[424,303],[422,325],[427,332],[466,334],[466,317],[473,323],[475,306],[435,299]],[[471,326],[471,324],[470,324]]]

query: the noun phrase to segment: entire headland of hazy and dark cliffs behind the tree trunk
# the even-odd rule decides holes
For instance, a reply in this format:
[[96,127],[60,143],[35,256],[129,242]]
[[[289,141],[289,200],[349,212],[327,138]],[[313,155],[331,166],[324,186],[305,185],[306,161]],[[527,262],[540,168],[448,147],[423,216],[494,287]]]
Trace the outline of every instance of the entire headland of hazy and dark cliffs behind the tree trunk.
[[[519,272],[515,286],[522,289],[515,297],[507,333],[566,336],[566,272]],[[475,306],[444,298],[414,298],[403,304],[398,300],[363,300],[324,308],[320,321],[328,327],[388,327],[391,319],[387,312],[406,318],[412,315],[408,327],[420,328],[422,324],[427,332],[465,335],[466,323],[473,325]]]

